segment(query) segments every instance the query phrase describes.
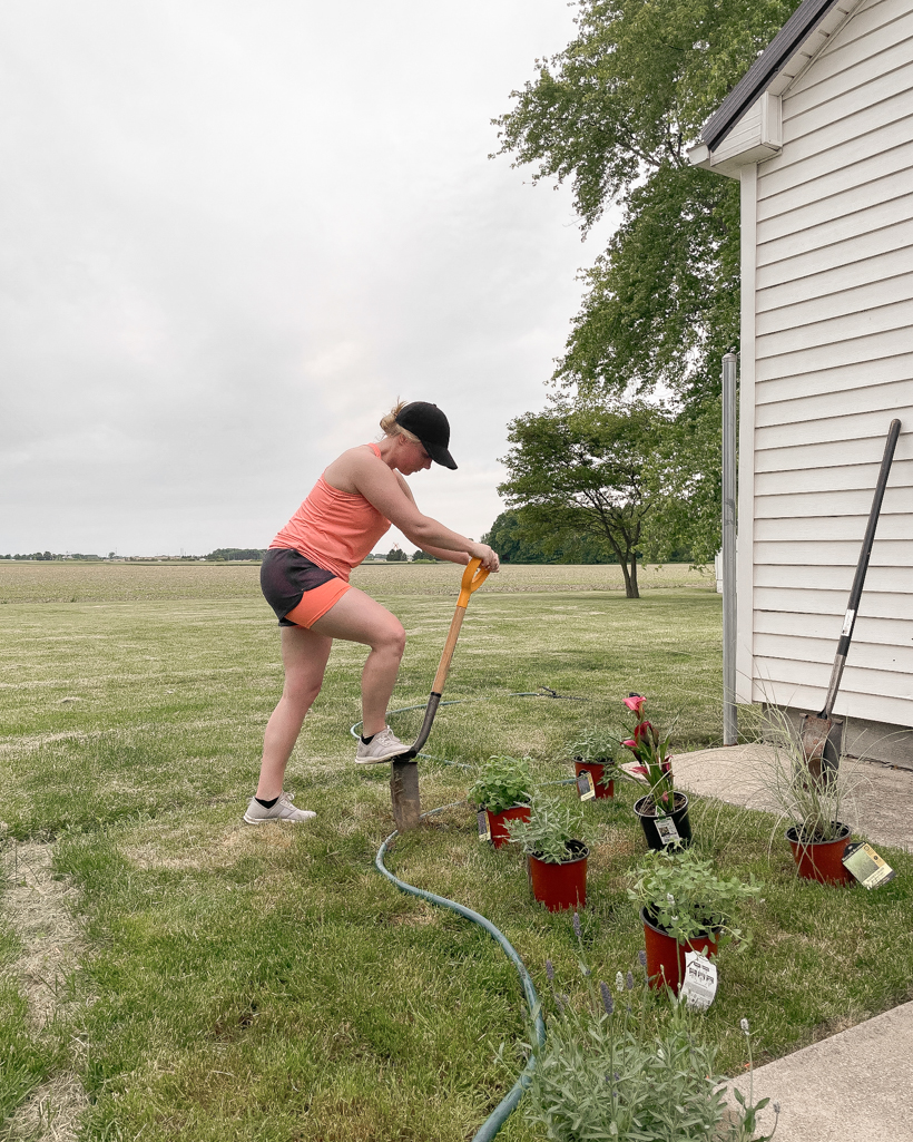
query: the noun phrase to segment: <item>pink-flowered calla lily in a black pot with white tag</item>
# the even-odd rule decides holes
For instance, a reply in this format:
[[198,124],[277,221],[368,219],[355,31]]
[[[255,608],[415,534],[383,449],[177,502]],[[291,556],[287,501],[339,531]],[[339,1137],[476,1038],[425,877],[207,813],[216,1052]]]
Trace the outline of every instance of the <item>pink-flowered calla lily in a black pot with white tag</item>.
[[674,788],[672,755],[669,753],[671,727],[663,735],[646,719],[643,694],[629,694],[624,705],[635,716],[631,737],[622,742],[635,756],[637,764],[630,769],[646,779],[649,793],[635,803],[644,836],[651,849],[666,845],[688,845],[692,827],[688,821],[688,798]]

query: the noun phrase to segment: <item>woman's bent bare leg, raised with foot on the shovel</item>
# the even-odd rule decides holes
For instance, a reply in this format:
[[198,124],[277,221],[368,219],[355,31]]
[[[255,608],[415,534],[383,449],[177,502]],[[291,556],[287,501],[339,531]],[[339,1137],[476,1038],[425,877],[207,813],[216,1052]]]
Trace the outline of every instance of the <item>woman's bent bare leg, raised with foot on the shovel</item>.
[[387,724],[387,706],[406,645],[406,633],[395,614],[370,595],[352,587],[312,632],[371,648],[362,671],[362,733],[369,738]]

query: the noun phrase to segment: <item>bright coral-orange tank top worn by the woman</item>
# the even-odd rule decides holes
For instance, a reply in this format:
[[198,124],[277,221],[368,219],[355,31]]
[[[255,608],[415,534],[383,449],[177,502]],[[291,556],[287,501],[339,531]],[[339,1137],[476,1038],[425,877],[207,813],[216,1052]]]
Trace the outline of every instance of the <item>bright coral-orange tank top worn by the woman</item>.
[[[367,447],[380,459],[378,445]],[[291,547],[348,582],[352,569],[389,528],[390,521],[364,496],[341,492],[321,476],[269,547]]]

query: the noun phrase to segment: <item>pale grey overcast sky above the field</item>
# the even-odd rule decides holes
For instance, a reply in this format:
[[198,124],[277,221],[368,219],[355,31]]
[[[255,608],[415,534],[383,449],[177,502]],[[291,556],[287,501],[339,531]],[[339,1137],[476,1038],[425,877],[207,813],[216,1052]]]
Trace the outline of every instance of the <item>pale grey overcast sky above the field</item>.
[[397,396],[460,465],[419,506],[478,538],[608,233],[487,158],[572,17],[0,6],[0,553],[265,547]]

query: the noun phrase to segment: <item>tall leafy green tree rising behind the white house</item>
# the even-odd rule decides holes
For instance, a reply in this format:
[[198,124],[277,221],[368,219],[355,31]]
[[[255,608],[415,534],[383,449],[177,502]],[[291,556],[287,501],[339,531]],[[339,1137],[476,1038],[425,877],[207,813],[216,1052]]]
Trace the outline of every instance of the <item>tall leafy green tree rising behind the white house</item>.
[[720,359],[738,343],[738,185],[693,168],[687,150],[798,3],[580,0],[574,40],[536,62],[498,120],[515,166],[571,182],[584,233],[620,208],[608,247],[582,272],[555,380],[584,399],[672,403],[682,447],[704,447],[700,478],[680,466],[678,513],[704,555],[719,532]]

